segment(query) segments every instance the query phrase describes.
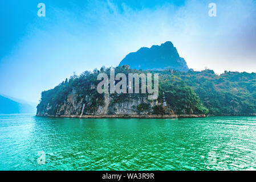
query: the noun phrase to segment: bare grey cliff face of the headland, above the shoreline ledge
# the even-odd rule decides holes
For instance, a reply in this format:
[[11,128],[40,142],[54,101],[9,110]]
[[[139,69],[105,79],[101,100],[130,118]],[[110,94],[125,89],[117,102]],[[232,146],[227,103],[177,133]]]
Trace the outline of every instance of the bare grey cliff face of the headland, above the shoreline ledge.
[[[96,92],[95,89],[92,92]],[[144,103],[147,109],[140,111],[137,106]],[[101,94],[100,97],[86,96],[84,98],[73,91],[67,100],[60,105],[38,107],[39,115],[119,115],[119,114],[148,114],[153,112],[153,107],[158,105],[157,101],[149,102],[147,96],[142,94]],[[52,112],[54,111],[54,112]]]

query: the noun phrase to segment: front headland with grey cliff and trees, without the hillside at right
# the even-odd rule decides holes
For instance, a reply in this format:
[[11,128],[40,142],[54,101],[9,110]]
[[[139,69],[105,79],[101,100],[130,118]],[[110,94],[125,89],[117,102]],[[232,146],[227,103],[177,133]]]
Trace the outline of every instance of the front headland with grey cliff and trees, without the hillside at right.
[[[157,71],[162,74],[159,76],[159,97],[156,100],[148,100],[146,93],[100,94],[96,89],[96,85],[99,84],[97,76],[100,72],[108,74],[109,71],[110,68],[102,68],[92,73],[86,71],[80,76],[70,77],[54,89],[42,92],[36,115],[82,118],[177,118],[205,117],[208,112],[196,93],[183,82],[179,80],[175,86],[166,84],[166,81],[170,82],[173,78],[169,72]],[[151,72],[153,71],[115,68],[116,74],[123,73],[127,77],[130,73],[140,75]],[[166,104],[163,101],[163,92]]]

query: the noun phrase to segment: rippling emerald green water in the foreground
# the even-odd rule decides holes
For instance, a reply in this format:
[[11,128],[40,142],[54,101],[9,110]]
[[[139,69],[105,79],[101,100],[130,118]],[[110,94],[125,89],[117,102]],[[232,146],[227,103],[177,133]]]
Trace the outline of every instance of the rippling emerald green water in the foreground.
[[209,169],[256,169],[256,117],[0,115],[0,170]]

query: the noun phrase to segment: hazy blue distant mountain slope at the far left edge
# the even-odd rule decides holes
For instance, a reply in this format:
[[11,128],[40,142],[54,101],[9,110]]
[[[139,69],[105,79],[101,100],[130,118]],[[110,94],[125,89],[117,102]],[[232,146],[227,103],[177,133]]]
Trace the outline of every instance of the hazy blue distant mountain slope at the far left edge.
[[0,114],[34,113],[35,109],[29,104],[19,103],[0,95]]

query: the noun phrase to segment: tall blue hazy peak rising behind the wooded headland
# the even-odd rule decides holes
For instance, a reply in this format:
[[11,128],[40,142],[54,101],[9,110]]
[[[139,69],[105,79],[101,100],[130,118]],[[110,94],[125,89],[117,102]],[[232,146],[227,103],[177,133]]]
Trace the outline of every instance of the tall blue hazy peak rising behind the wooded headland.
[[132,69],[157,70],[173,69],[187,72],[189,70],[186,61],[178,55],[172,42],[165,42],[161,46],[151,48],[142,47],[137,52],[131,52],[121,60],[121,65],[129,65]]

